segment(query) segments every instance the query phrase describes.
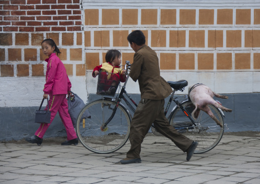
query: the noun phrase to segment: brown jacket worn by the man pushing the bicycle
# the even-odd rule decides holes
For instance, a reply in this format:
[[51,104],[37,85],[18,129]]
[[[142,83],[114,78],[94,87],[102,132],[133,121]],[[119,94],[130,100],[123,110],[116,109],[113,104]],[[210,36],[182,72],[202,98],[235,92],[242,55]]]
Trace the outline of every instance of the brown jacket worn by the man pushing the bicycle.
[[138,80],[141,99],[164,99],[172,92],[168,83],[160,76],[159,61],[156,52],[142,46],[134,55],[129,76]]

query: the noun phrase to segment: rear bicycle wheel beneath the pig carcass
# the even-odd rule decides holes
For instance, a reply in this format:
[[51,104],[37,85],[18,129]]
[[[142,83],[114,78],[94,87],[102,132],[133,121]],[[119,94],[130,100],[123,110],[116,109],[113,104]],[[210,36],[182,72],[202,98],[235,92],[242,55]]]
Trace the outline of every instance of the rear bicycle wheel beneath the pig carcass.
[[[185,107],[186,111],[188,111],[189,114],[191,114],[194,110],[193,104],[188,99],[183,100],[181,102],[181,105]],[[194,153],[205,153],[212,150],[216,145],[219,144],[224,133],[224,120],[220,110],[212,105],[208,106],[215,117],[218,118],[223,128],[218,126],[207,113],[205,113],[204,111],[200,111],[197,119],[192,118],[197,125],[196,127],[193,125],[194,129],[178,130],[189,139],[199,142],[199,145]],[[169,123],[175,128],[192,126],[191,120],[178,106],[176,106],[176,108],[170,113]]]

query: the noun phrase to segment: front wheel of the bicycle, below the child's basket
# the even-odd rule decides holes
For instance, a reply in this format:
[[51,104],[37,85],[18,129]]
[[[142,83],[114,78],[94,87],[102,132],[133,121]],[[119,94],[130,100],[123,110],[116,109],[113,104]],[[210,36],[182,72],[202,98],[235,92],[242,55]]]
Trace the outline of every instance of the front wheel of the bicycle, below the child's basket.
[[[124,146],[129,137],[131,117],[122,105],[118,105],[113,118],[104,127],[115,108],[114,101],[99,99],[81,110],[76,133],[86,149],[94,153],[112,153]],[[91,118],[85,116],[87,111]]]

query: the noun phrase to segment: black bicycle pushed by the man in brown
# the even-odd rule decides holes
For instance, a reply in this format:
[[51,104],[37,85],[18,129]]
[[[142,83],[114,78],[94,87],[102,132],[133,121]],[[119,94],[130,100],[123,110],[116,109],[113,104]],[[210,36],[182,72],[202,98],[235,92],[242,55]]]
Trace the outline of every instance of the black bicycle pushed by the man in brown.
[[[121,91],[119,90],[120,92],[115,98],[102,96],[101,99],[94,100],[87,104],[78,115],[76,122],[77,136],[81,144],[94,153],[115,152],[122,148],[128,140],[132,119],[129,109],[134,113],[135,108],[129,103],[125,96],[137,107],[135,101],[125,90],[129,78],[128,72],[130,66],[130,62],[126,61],[126,81],[123,86],[120,86]],[[177,91],[183,92],[184,88],[188,85],[187,80],[168,81],[168,84],[174,90],[165,108],[165,116],[171,102],[174,101],[176,103],[176,106],[168,115],[169,124],[188,138],[199,141],[199,145],[194,153],[210,151],[219,144],[223,136],[224,113],[221,109],[209,105],[212,113],[221,122],[223,128],[216,125],[215,121],[203,111],[200,111],[197,119],[193,119],[191,112],[194,110],[194,107],[188,96],[184,95],[181,99],[174,97]],[[121,103],[122,99],[125,101],[128,109]],[[91,118],[84,117],[84,112],[87,110],[91,114]],[[225,126],[227,127],[226,124]],[[151,126],[151,131],[155,135],[160,135],[154,126]]]

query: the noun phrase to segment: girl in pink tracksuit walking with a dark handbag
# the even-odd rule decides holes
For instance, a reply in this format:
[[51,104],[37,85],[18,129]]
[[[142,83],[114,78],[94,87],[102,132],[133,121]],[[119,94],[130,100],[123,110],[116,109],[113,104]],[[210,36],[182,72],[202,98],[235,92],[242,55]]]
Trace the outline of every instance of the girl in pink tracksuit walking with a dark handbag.
[[[51,111],[51,122],[57,112],[59,112],[59,116],[67,132],[67,141],[62,142],[61,145],[77,145],[78,138],[72,125],[71,117],[68,112],[68,102],[66,99],[66,95],[70,94],[69,91],[71,91],[71,82],[63,63],[56,55],[56,53],[60,54],[60,51],[51,38],[42,41],[41,50],[45,55],[49,56],[48,59],[45,59],[48,64],[46,71],[46,84],[44,86],[44,98],[46,99],[48,98],[48,95],[50,96],[49,108]],[[45,110],[47,110],[47,107]],[[25,140],[31,143],[36,143],[40,146],[42,143],[42,137],[44,137],[49,126],[50,124],[40,124],[40,127],[35,134]]]

